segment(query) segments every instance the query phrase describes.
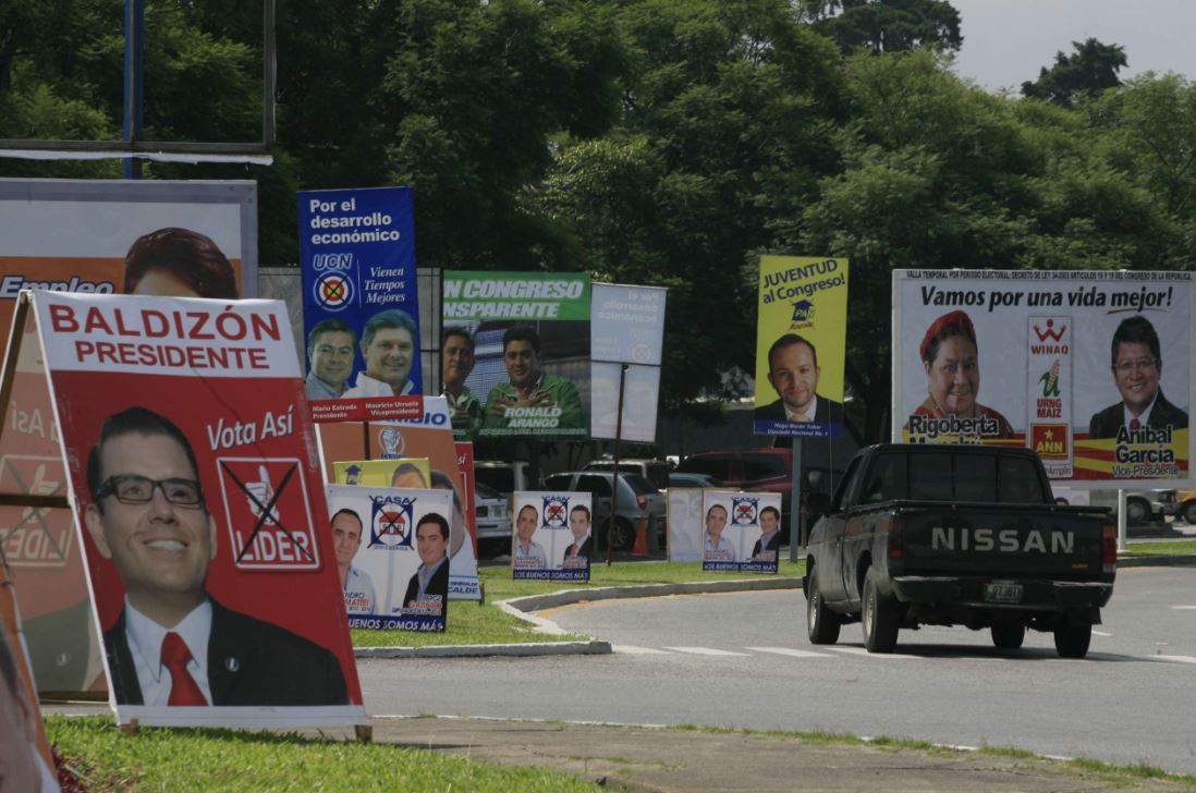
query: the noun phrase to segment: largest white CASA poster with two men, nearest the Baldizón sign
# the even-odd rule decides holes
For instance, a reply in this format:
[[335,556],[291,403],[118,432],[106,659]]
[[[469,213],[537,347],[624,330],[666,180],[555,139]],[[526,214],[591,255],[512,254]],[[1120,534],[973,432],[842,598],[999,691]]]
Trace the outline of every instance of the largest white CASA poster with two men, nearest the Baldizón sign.
[[444,630],[452,494],[329,484],[328,510],[349,627]]

